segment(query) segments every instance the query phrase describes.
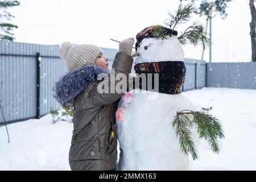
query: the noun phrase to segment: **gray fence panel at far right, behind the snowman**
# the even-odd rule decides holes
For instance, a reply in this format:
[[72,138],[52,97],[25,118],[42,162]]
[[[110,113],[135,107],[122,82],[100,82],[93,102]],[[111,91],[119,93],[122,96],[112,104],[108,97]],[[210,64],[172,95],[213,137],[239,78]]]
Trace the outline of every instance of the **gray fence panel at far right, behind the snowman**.
[[256,63],[207,64],[207,86],[256,89]]

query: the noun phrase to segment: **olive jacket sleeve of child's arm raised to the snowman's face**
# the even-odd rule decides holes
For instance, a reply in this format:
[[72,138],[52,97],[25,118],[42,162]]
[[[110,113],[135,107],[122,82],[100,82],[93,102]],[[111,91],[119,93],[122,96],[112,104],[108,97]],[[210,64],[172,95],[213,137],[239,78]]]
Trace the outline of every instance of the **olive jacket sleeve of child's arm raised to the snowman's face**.
[[[97,88],[102,81],[92,82],[86,89],[87,99],[92,103],[93,106],[102,106],[117,101],[118,98],[122,97],[124,93],[117,93],[115,85],[120,80],[116,80],[115,76],[118,73],[123,73],[126,76],[126,85],[129,82],[129,73],[131,72],[131,66],[133,65],[133,58],[125,52],[118,52],[115,55],[115,59],[112,66],[112,71],[108,75],[108,90],[112,89],[114,92],[99,93]],[[114,81],[110,81],[113,79]]]

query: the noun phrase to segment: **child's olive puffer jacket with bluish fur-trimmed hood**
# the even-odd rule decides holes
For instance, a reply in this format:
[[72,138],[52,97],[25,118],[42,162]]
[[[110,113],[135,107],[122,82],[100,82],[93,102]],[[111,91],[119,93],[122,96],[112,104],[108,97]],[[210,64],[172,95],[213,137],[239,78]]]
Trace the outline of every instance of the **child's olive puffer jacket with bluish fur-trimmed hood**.
[[[133,59],[125,52],[115,56],[113,69],[108,77],[124,73],[128,79]],[[102,93],[97,90],[101,81],[100,73],[106,73],[93,65],[84,66],[65,75],[55,88],[56,98],[63,105],[73,103],[73,136],[69,151],[69,164],[72,170],[114,170],[117,163],[117,137],[115,133],[115,111],[123,93]],[[110,79],[109,79],[110,80]],[[115,88],[119,81],[110,82]],[[127,81],[128,84],[128,81]],[[58,85],[58,84],[57,84]],[[68,86],[72,88],[72,92]],[[58,86],[57,86],[58,87]],[[68,101],[67,101],[68,100]]]

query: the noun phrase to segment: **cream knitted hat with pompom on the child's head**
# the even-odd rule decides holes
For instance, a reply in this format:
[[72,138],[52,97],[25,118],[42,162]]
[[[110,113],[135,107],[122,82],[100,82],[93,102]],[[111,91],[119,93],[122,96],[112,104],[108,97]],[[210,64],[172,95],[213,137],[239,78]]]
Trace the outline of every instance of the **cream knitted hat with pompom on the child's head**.
[[81,68],[83,65],[94,64],[100,53],[103,51],[100,47],[82,44],[73,46],[70,42],[64,42],[59,47],[59,55],[61,59],[67,61],[68,71]]

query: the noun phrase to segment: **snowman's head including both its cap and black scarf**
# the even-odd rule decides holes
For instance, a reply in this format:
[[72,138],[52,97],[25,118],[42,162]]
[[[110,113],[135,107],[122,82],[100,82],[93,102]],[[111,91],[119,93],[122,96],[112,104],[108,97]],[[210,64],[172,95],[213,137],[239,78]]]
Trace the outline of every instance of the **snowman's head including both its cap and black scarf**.
[[[139,32],[136,39],[135,47],[139,56],[135,59],[135,73],[138,76],[150,76],[144,82],[139,81],[140,89],[146,82],[147,86],[157,85],[157,92],[160,93],[181,93],[186,69],[184,51],[177,39],[177,32],[162,26],[151,26]],[[156,74],[153,79],[152,74]]]

